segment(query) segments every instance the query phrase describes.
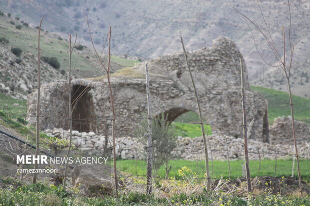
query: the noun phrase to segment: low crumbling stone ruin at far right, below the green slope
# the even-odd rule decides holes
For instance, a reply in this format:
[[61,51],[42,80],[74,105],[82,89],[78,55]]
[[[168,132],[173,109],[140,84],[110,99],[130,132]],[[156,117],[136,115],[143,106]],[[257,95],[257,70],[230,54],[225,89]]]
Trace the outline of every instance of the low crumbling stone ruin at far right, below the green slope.
[[[295,120],[296,141],[298,144],[310,142],[310,125]],[[291,116],[274,119],[269,128],[271,144],[293,144]]]

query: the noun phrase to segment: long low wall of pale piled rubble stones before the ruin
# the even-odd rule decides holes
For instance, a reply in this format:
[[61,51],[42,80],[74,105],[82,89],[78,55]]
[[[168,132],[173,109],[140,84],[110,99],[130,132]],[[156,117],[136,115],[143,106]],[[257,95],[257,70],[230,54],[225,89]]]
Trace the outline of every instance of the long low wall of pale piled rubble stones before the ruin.
[[[62,129],[47,130],[47,135],[55,136],[60,139],[69,139],[69,132]],[[104,135],[96,135],[93,132],[72,132],[72,144],[74,148],[88,151],[90,154],[101,156],[103,153]],[[112,142],[109,137],[109,142]],[[243,159],[243,139],[234,138],[225,135],[209,136],[208,157],[213,160],[230,160]],[[226,145],[227,143],[227,145]],[[108,154],[111,155],[111,146],[108,145]],[[120,137],[116,139],[116,154],[121,159],[137,159],[144,160],[146,153],[144,146],[132,137]],[[310,158],[310,142],[298,144],[299,156],[302,158]],[[228,152],[227,152],[228,151]],[[291,144],[270,145],[261,143],[259,140],[249,140],[248,155],[250,160],[261,159],[286,159],[292,158],[293,147]],[[177,147],[172,151],[172,159],[182,160],[203,160],[204,149],[201,137],[188,138],[178,137]]]

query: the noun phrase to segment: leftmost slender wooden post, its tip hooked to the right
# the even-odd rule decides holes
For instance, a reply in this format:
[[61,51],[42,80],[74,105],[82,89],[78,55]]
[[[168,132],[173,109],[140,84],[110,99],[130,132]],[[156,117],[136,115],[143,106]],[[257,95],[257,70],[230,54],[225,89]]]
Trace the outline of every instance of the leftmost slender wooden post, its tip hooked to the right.
[[[41,25],[44,17],[41,18],[40,20],[40,25],[39,25],[39,31],[38,31],[38,44],[37,44],[37,99],[36,99],[36,141],[35,141],[35,158],[38,156],[39,152],[39,146],[40,146],[40,87],[41,87],[41,82],[40,82],[40,31],[41,31]],[[37,162],[34,163],[34,170],[38,168]],[[33,173],[32,177],[32,184],[36,183],[36,173]]]

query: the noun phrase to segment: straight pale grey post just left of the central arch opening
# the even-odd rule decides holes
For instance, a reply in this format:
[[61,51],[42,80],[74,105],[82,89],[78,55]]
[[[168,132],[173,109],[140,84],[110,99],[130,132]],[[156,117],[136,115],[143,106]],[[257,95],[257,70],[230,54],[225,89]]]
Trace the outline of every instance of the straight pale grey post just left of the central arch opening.
[[147,114],[148,114],[148,137],[147,137],[147,172],[146,172],[146,193],[151,194],[152,191],[152,113],[149,97],[149,79],[148,67],[145,64],[145,77],[146,77],[146,97],[147,97]]

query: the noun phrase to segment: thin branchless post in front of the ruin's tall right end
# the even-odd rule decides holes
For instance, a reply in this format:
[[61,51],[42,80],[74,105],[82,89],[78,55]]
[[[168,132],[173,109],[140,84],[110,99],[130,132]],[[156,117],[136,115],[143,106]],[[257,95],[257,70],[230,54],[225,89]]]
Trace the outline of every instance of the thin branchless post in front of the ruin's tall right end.
[[245,172],[246,172],[246,182],[247,182],[247,195],[252,192],[251,189],[251,178],[249,174],[248,165],[248,153],[247,153],[247,128],[246,128],[246,109],[245,109],[245,96],[244,96],[244,84],[243,84],[243,65],[240,59],[241,68],[241,98],[242,98],[242,113],[243,113],[243,149],[244,149],[244,161],[245,161]]

